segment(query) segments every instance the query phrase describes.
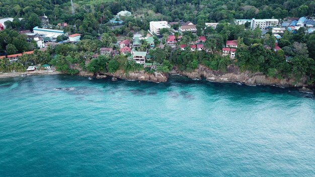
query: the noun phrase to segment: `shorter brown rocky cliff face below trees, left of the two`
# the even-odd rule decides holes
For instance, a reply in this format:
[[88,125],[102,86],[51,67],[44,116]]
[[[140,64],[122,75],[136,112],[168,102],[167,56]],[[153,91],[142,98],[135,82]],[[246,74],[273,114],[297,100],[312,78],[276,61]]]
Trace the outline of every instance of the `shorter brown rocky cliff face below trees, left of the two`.
[[114,73],[107,73],[107,75],[112,77],[117,77],[120,79],[128,79],[128,80],[144,80],[144,81],[153,81],[153,82],[166,82],[168,81],[168,74],[161,74],[158,72],[154,72],[152,74],[142,71],[137,72],[129,72],[125,73],[124,70],[117,70]]

